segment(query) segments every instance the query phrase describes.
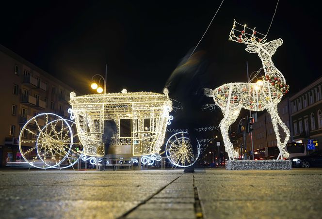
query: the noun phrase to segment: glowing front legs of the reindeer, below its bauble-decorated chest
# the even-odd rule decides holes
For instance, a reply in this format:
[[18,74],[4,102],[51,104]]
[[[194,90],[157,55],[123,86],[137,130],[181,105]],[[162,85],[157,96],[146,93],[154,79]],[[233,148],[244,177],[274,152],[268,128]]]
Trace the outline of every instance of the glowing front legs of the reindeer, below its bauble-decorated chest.
[[[282,156],[281,158],[283,158],[283,157],[288,158],[289,153],[286,151],[285,148],[286,148],[287,142],[290,140],[290,131],[289,131],[288,127],[283,123],[281,118],[279,117],[278,112],[277,112],[277,108],[275,105],[272,104],[271,106],[269,106],[267,108],[267,111],[271,114],[272,124],[274,127],[276,140],[277,140],[277,147],[279,148],[280,155]],[[281,142],[281,139],[279,136],[279,131],[278,131],[278,124],[282,127],[282,129],[286,133],[286,138],[285,138],[284,142]]]

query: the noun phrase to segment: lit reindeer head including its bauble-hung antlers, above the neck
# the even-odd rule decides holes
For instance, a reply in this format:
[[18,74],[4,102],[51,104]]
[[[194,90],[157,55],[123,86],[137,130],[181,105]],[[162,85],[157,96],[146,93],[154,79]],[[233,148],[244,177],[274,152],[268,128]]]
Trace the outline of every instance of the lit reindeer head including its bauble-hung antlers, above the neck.
[[[236,25],[242,26],[241,31],[236,29]],[[258,53],[258,55],[273,56],[277,47],[283,43],[282,39],[272,40],[266,42],[266,35],[255,31],[256,28],[250,29],[246,25],[242,25],[234,21],[233,28],[229,34],[229,40],[238,43],[246,44],[245,50],[250,53]],[[238,36],[235,35],[235,31],[239,32]],[[247,32],[248,31],[248,32]],[[249,33],[251,31],[251,33]],[[257,35],[256,35],[257,34]]]

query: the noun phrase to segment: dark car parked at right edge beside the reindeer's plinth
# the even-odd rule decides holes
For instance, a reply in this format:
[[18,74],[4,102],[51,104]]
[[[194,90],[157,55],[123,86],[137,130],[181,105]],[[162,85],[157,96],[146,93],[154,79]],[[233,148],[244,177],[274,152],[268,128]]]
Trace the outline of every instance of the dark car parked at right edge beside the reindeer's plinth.
[[295,156],[290,158],[290,160],[292,161],[293,167],[322,167],[322,150],[315,151],[312,154],[306,156]]

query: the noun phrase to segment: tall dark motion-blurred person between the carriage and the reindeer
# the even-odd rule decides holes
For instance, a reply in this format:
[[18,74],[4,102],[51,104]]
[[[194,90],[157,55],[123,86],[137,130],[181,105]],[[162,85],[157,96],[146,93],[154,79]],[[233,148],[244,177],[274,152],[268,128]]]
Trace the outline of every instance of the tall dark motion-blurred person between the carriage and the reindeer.
[[[208,54],[205,50],[197,50],[192,54],[191,49],[183,57],[176,69],[166,82],[169,96],[182,104],[182,123],[188,129],[193,147],[193,155],[196,158],[198,111],[201,109],[201,99],[204,97],[201,77],[209,65]],[[191,55],[192,54],[192,55]],[[195,159],[194,158],[194,159]],[[186,167],[184,172],[194,172],[194,164]]]

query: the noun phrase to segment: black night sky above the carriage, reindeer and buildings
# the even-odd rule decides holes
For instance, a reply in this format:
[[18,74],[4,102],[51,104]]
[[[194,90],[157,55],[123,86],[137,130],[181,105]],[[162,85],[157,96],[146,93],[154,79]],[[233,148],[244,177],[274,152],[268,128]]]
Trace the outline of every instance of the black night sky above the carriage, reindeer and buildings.
[[[105,64],[108,92],[127,88],[161,93],[180,59],[197,45],[221,0],[10,2],[1,5],[0,44],[89,94],[92,76],[104,76]],[[257,54],[228,41],[228,35],[234,18],[266,33],[276,2],[224,1],[199,47],[209,55],[201,86],[246,82],[247,61],[249,73],[260,68]],[[273,61],[290,84],[290,93],[321,76],[321,16],[312,2],[280,0],[267,37],[284,40]]]

